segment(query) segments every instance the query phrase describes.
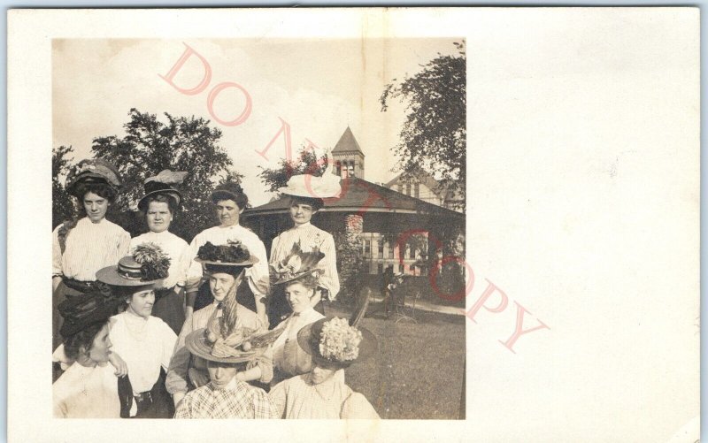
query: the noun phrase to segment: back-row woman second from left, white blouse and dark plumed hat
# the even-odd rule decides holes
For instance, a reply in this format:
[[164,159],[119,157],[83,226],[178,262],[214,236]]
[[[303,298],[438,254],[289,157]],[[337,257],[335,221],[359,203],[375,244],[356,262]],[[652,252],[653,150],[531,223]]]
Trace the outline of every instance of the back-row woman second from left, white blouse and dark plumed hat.
[[145,180],[145,195],[138,202],[147,222],[149,233],[138,235],[130,241],[130,250],[144,244],[156,244],[170,259],[169,275],[155,286],[155,304],[152,315],[161,318],[180,333],[184,324],[184,278],[186,264],[182,260],[187,241],[169,231],[174,213],[180,208],[181,194],[173,187],[180,184],[187,172],[165,170]]

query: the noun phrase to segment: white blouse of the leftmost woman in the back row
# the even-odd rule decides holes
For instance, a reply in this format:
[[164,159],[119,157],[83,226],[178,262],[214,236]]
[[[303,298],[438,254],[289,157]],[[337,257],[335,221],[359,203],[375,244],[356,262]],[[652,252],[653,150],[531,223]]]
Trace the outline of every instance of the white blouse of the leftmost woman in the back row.
[[66,237],[64,254],[59,245],[58,225],[52,233],[52,275],[81,281],[96,281],[96,271],[118,264],[127,256],[130,234],[105,218],[93,223],[81,218]]

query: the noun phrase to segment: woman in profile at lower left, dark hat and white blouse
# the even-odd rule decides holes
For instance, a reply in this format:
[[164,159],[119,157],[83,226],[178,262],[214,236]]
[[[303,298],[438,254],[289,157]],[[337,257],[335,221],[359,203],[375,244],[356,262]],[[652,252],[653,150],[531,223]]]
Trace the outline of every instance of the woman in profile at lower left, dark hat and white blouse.
[[51,386],[56,418],[119,418],[130,409],[130,384],[108,364],[108,317],[118,301],[80,294],[59,304],[65,353],[74,363]]

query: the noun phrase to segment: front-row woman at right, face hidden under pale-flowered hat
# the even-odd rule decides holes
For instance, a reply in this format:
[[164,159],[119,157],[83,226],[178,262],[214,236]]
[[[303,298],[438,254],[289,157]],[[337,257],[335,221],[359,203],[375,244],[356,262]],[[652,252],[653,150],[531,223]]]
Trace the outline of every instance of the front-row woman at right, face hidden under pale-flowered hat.
[[379,418],[361,393],[344,384],[344,368],[360,362],[376,349],[376,339],[344,318],[322,318],[297,334],[300,346],[315,366],[307,374],[289,378],[271,390],[271,400],[282,418]]

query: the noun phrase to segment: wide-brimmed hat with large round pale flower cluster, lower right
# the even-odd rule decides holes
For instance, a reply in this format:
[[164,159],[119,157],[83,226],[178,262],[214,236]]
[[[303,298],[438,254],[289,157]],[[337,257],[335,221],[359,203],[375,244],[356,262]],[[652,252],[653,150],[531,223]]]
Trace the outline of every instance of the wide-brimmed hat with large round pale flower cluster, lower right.
[[354,327],[346,318],[321,318],[297,332],[297,344],[312,355],[312,361],[338,369],[359,363],[378,348],[376,337],[363,327]]

